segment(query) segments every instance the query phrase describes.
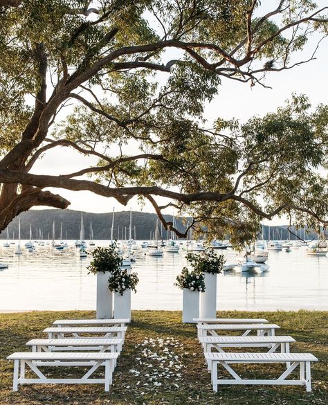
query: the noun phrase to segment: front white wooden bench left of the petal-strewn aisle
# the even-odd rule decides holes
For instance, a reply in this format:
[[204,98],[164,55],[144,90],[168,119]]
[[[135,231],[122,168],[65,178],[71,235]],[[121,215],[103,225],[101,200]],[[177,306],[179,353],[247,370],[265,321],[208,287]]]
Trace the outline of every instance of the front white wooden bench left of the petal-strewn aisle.
[[[98,352],[17,352],[10,354],[8,360],[14,360],[14,379],[12,390],[17,391],[21,384],[104,384],[109,391],[112,383],[114,362],[118,353]],[[28,366],[38,378],[26,378],[25,366]],[[91,366],[80,378],[48,378],[39,366]],[[93,373],[104,366],[104,378],[91,378]]]

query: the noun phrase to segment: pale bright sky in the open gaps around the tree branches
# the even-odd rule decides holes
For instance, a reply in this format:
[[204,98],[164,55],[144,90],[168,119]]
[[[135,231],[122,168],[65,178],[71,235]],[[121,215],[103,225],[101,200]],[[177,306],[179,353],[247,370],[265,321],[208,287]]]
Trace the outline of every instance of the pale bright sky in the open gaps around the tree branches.
[[[306,60],[311,55],[311,49],[313,49],[315,42],[316,38],[310,40],[307,50],[302,53],[302,60]],[[205,118],[209,123],[212,123],[219,116],[225,119],[237,118],[240,122],[245,122],[252,116],[263,116],[268,112],[275,111],[277,107],[284,105],[284,102],[291,98],[292,93],[303,93],[309,96],[314,107],[320,103],[327,104],[327,49],[328,40],[326,39],[316,54],[316,60],[296,66],[289,71],[268,74],[266,85],[272,89],[264,89],[259,85],[250,87],[249,84],[223,79],[219,94],[210,104],[206,105]],[[33,172],[35,174],[64,174],[94,165],[96,162],[97,159],[86,158],[68,147],[60,149],[56,147],[54,150],[46,152],[44,158],[35,164]],[[130,200],[128,206],[122,206],[113,198],[101,197],[92,192],[73,192],[51,188],[49,190],[59,193],[71,201],[69,209],[72,210],[93,213],[106,213],[113,210],[113,207],[116,211],[129,210],[130,207],[132,210],[141,210],[136,197]],[[164,201],[166,200],[159,200],[161,204]],[[42,208],[47,207],[38,207],[38,209]],[[150,204],[146,204],[143,211],[154,212],[154,208]],[[168,210],[167,213],[172,213],[172,210]],[[266,223],[282,224],[284,222],[286,222],[284,219],[274,219],[271,223]]]

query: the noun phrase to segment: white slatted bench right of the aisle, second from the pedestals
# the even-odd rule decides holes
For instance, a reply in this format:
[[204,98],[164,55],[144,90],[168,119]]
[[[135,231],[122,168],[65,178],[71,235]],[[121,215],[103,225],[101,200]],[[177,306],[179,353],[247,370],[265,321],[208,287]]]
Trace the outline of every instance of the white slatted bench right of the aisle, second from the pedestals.
[[242,336],[247,336],[252,330],[257,331],[257,336],[275,336],[275,330],[280,329],[280,326],[275,323],[199,323],[197,324],[198,336],[208,336],[208,333],[212,336],[219,336],[218,332],[229,331],[244,331]]

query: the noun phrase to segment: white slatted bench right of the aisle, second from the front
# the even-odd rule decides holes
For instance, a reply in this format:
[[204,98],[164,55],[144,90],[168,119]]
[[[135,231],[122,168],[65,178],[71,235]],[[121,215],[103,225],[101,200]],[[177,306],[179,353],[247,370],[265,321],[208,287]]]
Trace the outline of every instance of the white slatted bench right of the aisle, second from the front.
[[[269,348],[268,353],[280,348],[282,353],[289,353],[289,344],[295,342],[295,339],[291,336],[206,336],[199,341],[203,345],[204,354],[212,352],[212,348],[221,353],[225,353],[223,348]],[[210,370],[210,360],[207,363]],[[290,366],[289,361],[286,366]]]

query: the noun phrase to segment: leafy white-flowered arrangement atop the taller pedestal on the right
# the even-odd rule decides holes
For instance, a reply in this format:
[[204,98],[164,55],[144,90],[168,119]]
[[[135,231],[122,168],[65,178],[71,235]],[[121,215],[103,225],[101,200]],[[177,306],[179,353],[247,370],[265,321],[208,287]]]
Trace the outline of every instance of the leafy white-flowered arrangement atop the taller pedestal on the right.
[[217,255],[214,249],[207,247],[201,254],[188,253],[185,258],[196,273],[219,274],[226,262],[224,255]]

